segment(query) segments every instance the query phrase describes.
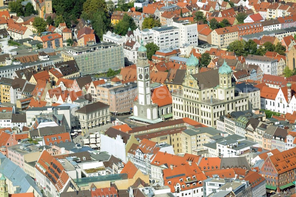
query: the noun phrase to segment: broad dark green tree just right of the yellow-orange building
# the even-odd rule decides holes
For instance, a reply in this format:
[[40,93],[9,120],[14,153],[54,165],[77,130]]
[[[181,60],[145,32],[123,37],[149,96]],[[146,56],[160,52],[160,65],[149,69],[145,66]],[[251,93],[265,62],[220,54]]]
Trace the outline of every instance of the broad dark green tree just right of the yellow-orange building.
[[126,35],[126,33],[128,32],[128,28],[131,28],[131,30],[133,31],[137,28],[137,26],[131,16],[124,14],[122,20],[120,20],[114,26],[114,31],[119,35]]

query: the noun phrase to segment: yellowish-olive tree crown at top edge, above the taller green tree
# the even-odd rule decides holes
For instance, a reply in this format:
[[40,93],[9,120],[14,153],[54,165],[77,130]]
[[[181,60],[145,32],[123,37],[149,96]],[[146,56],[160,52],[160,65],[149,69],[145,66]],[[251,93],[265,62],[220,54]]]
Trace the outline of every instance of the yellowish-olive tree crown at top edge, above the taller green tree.
[[84,16],[90,19],[91,15],[95,13],[99,8],[102,8],[107,13],[107,4],[105,0],[86,0],[83,4]]

